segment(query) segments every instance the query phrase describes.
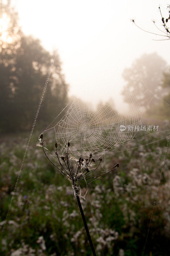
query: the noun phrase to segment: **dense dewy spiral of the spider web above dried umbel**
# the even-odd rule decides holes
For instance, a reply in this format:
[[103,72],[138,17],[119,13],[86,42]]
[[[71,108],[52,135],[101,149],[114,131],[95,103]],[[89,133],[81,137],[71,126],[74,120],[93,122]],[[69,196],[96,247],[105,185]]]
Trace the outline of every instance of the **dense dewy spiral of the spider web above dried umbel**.
[[[141,95],[137,93],[139,86],[143,86]],[[134,139],[137,130],[130,130],[127,127],[142,124],[143,111],[148,104],[142,109],[139,100],[144,98],[146,93],[147,98],[149,95],[149,104],[154,95],[149,92],[142,80],[133,91],[127,89],[123,92],[123,98],[127,102],[128,109],[123,114],[116,110],[112,100],[105,104],[99,103],[95,109],[92,100],[87,103],[75,97],[63,118],[54,126],[52,126],[54,123],[52,122],[51,127],[48,127],[43,133],[49,130],[54,131],[55,137],[53,138],[60,143],[61,154],[63,155],[66,153],[69,141],[72,155],[87,157],[92,153],[95,156],[100,156],[102,152],[107,153],[109,150]],[[124,131],[120,129],[123,127],[126,127]]]

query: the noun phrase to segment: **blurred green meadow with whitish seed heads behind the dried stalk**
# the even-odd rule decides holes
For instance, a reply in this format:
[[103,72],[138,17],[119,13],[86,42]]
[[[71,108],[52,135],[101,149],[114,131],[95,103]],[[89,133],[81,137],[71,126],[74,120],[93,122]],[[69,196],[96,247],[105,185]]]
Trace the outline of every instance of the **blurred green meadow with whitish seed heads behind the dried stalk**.
[[[166,136],[157,133],[115,148],[106,156],[106,169],[117,163],[120,167],[88,186],[82,182],[82,193],[88,192],[81,202],[97,255],[143,255],[156,195],[144,256],[170,255]],[[32,137],[6,222],[27,137],[0,138],[1,255],[92,255],[71,185],[36,147],[38,133]]]

